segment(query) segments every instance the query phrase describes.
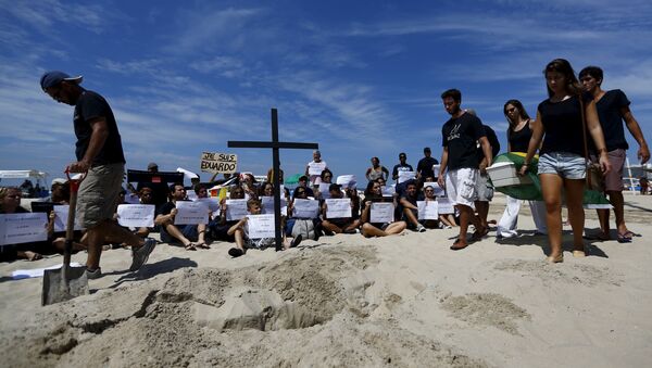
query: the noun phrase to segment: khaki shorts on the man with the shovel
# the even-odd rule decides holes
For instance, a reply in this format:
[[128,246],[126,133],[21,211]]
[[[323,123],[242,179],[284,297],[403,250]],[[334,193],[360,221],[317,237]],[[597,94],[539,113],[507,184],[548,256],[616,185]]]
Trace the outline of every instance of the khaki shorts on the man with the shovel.
[[91,167],[79,185],[77,194],[77,220],[90,229],[105,219],[112,219],[117,208],[125,164]]

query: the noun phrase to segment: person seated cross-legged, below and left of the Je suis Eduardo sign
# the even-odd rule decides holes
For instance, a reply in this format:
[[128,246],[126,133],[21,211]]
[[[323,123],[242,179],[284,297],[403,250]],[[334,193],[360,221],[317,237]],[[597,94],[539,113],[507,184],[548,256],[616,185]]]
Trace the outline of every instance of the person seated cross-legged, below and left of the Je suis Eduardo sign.
[[206,225],[174,225],[177,214],[176,203],[186,201],[186,189],[180,182],[170,186],[170,202],[160,206],[156,211],[154,224],[161,227],[161,241],[172,243],[180,241],[187,251],[197,251],[197,248],[210,249],[204,240]]

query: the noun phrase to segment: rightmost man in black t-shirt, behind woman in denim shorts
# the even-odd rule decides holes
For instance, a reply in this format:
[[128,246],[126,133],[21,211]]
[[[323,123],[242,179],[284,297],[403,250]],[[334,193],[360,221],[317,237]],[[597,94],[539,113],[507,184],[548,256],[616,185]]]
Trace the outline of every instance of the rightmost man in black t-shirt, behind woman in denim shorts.
[[[627,96],[619,90],[614,89],[604,91],[601,88],[603,80],[602,69],[598,66],[587,66],[579,72],[579,80],[586,91],[593,96],[600,125],[604,132],[604,143],[609,161],[613,169],[604,175],[604,191],[609,195],[611,204],[614,206],[616,215],[616,227],[618,230],[618,241],[627,243],[631,241],[632,232],[625,225],[625,210],[623,198],[623,168],[625,166],[626,150],[629,148],[625,139],[625,129],[623,120],[627,125],[627,129],[639,143],[638,158],[641,164],[650,160],[650,149],[643,137],[641,128],[629,110],[629,100]],[[600,218],[601,233],[598,239],[610,239],[609,210],[598,210]]]

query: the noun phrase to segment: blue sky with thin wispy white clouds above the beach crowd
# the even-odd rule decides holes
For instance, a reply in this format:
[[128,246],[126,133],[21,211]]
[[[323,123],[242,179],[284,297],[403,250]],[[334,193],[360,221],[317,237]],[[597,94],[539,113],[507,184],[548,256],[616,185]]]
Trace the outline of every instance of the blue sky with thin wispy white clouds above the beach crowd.
[[[652,136],[652,3],[547,1],[9,1],[0,0],[0,169],[60,176],[74,157],[73,109],[42,93],[48,69],[82,74],[110,102],[127,167],[199,172],[203,151],[236,153],[239,169],[272,165],[268,150],[228,140],[317,142],[335,175],[363,177],[441,155],[459,88],[503,150],[509,99],[530,115],[555,58],[603,67]],[[638,144],[627,134],[636,162]],[[281,152],[286,175],[310,151]],[[209,174],[203,173],[202,178]],[[363,180],[360,180],[362,182]]]

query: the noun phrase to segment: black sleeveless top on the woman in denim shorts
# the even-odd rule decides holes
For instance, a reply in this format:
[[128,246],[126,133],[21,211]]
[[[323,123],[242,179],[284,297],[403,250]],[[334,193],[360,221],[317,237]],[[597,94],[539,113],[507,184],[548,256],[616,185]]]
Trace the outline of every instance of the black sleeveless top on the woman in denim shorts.
[[[584,93],[582,97],[585,105],[593,99],[590,93]],[[550,102],[550,99],[547,99],[539,104],[538,110],[546,131],[540,154],[568,152],[585,155],[580,109],[577,96],[560,102]]]

